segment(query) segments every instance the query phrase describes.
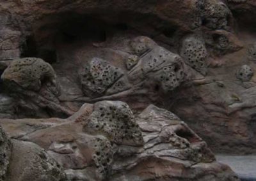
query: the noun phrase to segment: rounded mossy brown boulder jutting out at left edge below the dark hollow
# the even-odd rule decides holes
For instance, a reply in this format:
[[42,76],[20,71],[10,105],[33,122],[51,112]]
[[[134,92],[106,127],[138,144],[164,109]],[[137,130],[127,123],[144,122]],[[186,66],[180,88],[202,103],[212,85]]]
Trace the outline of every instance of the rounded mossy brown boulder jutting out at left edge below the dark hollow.
[[[56,74],[52,66],[38,58],[15,59],[1,76],[9,86],[15,84],[30,91],[39,92],[46,85],[55,96],[60,95],[60,87],[56,82]],[[14,82],[14,84],[13,84]],[[14,88],[19,88],[15,86]]]

